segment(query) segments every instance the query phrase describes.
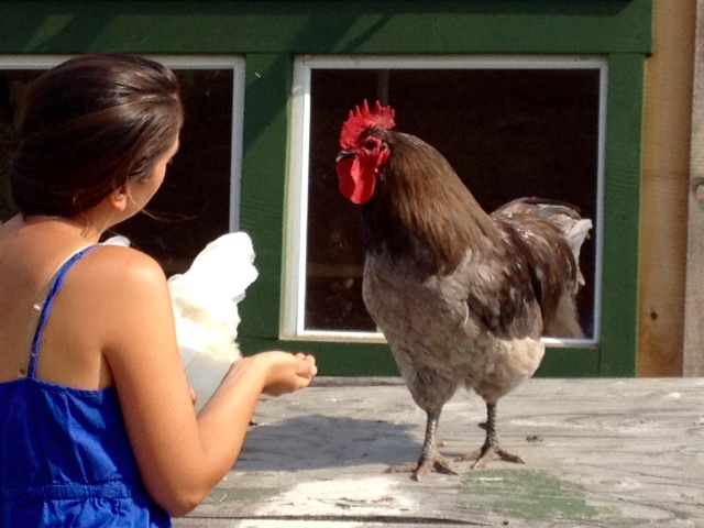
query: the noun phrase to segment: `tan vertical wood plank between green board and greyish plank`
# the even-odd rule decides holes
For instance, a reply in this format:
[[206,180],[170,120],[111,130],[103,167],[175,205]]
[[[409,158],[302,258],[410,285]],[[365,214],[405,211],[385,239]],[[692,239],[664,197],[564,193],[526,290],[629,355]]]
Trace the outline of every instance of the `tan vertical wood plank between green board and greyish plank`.
[[654,0],[646,66],[638,375],[681,376],[696,0]]

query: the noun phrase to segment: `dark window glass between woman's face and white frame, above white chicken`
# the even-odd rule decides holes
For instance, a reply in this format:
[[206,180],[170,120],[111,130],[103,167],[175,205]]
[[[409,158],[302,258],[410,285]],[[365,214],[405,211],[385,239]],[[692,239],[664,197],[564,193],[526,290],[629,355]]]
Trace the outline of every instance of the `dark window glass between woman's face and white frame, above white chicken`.
[[179,151],[146,211],[114,230],[157,258],[168,275],[185,272],[230,226],[233,73],[175,73],[186,109]]

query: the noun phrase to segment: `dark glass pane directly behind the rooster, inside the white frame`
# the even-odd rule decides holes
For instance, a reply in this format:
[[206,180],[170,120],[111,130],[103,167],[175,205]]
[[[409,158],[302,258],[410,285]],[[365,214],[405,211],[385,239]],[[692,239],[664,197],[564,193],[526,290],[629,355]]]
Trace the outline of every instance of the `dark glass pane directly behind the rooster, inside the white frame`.
[[[350,109],[386,98],[396,130],[438,148],[486,211],[540,196],[578,206],[596,224],[600,76],[598,69],[312,69],[306,329],[375,330],[361,294],[360,211],[338,191],[334,168]],[[594,234],[581,258],[587,336]]]

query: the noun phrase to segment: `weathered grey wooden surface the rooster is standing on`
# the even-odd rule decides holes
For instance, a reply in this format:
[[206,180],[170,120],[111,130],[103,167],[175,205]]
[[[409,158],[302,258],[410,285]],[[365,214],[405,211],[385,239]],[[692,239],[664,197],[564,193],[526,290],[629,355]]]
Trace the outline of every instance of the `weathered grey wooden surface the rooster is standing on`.
[[[240,461],[184,519],[195,527],[704,527],[704,378],[531,380],[498,406],[527,465],[420,483],[425,415],[396,380],[320,378],[263,399]],[[479,397],[446,406],[447,455],[477,448]]]

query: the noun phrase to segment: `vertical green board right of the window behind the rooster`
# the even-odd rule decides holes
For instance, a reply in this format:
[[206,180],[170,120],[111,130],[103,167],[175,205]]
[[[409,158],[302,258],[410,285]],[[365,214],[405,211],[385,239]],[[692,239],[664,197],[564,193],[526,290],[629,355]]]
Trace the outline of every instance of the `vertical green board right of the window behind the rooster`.
[[604,188],[604,376],[635,375],[645,57],[609,55]]

